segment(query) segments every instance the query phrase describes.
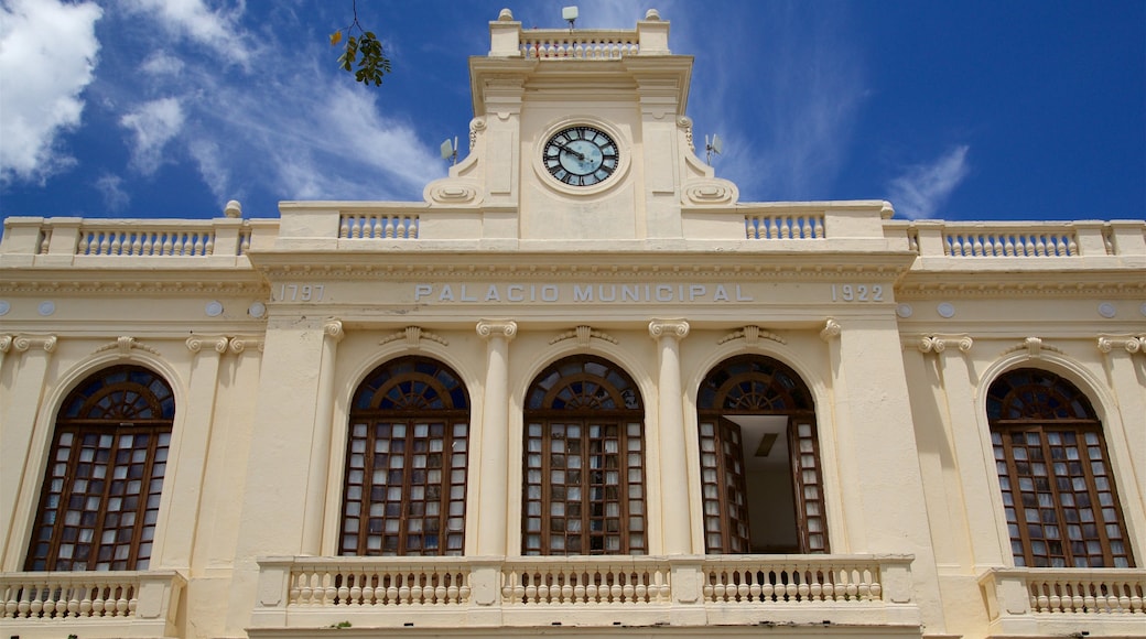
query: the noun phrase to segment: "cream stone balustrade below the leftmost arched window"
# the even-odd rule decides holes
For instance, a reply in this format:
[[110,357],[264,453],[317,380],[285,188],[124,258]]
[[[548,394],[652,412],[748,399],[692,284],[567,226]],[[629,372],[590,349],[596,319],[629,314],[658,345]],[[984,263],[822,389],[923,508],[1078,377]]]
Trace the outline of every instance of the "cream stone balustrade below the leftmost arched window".
[[80,622],[119,637],[171,636],[186,583],[174,570],[0,573],[0,618],[13,636],[46,628],[66,636]]

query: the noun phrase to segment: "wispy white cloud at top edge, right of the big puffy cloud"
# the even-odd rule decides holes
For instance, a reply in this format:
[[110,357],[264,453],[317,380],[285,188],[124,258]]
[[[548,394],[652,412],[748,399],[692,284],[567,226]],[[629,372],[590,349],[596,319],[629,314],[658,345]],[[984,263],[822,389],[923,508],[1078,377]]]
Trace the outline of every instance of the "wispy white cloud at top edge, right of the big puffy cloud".
[[203,0],[124,0],[129,10],[152,15],[170,32],[213,49],[223,58],[246,66],[249,39],[238,26],[244,5],[231,11],[211,9]]

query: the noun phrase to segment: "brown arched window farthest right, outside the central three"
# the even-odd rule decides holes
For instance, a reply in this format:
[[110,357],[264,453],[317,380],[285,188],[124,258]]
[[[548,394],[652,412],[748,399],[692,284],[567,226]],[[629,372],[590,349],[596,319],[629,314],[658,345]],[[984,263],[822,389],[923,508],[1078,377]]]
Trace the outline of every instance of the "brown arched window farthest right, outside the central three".
[[1019,369],[991,384],[987,418],[1015,565],[1132,567],[1090,400],[1052,372]]

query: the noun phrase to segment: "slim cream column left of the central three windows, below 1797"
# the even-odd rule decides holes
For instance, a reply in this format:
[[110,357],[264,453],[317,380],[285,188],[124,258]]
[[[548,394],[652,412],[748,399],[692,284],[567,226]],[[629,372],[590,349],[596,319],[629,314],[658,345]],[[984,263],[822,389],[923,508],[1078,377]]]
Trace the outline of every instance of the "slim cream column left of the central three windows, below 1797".
[[311,439],[311,481],[306,487],[306,512],[303,519],[303,554],[315,557],[322,554],[322,523],[327,510],[327,487],[330,483],[330,437],[333,429],[335,355],[344,334],[343,323],[338,320],[322,325],[319,397]]

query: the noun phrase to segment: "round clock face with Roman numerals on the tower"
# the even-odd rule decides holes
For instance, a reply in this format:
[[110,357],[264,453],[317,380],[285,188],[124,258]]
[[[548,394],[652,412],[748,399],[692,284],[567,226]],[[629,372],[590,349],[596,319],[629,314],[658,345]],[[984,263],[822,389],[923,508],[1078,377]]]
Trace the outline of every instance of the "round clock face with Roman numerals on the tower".
[[591,187],[609,179],[620,163],[617,143],[591,126],[571,126],[545,142],[542,163],[549,174],[571,187]]

